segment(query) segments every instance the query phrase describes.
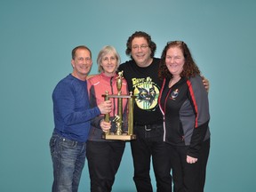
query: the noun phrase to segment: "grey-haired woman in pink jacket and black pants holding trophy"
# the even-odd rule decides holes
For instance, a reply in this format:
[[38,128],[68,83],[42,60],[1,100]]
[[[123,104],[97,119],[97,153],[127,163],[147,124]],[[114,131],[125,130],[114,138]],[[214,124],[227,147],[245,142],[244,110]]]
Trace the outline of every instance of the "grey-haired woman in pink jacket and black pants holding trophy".
[[[91,107],[97,106],[105,100],[103,94],[128,94],[127,84],[122,74],[116,74],[120,64],[120,56],[113,46],[104,46],[97,58],[99,75],[88,79],[88,91]],[[122,76],[122,79],[120,79]],[[121,82],[121,83],[120,83]],[[116,83],[119,84],[116,86]],[[119,87],[118,87],[119,86]],[[124,140],[105,140],[102,135],[116,132],[117,126],[122,124],[123,132],[127,130],[127,100],[122,100],[123,116],[118,116],[118,100],[112,101],[112,111],[108,118],[104,115],[92,120],[91,132],[87,141],[86,156],[91,179],[91,191],[111,191],[115,175],[124,154]],[[120,110],[120,108],[119,108]]]

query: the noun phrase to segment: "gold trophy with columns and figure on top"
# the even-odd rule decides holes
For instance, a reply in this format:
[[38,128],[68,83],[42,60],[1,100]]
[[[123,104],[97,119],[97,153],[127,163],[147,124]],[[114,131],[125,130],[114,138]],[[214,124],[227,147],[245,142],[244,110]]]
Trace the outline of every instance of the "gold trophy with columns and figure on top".
[[[102,134],[102,138],[105,140],[135,140],[136,135],[133,134],[133,106],[134,106],[134,99],[135,96],[132,95],[130,92],[129,95],[123,95],[121,92],[122,88],[122,79],[123,79],[123,71],[118,73],[116,87],[117,87],[117,94],[103,94],[105,100],[109,100],[109,98],[116,98],[117,99],[117,115],[113,119],[113,123],[116,124],[116,131],[115,132],[104,132]],[[123,100],[128,100],[128,132],[124,132],[122,128],[123,124]],[[104,117],[106,122],[109,122],[109,114],[106,114]]]

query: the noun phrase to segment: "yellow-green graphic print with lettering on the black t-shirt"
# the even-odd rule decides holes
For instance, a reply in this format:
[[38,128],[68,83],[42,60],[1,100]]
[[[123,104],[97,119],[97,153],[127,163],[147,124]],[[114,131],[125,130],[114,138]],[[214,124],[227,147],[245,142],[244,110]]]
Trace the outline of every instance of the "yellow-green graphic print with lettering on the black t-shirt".
[[141,109],[153,110],[156,108],[159,88],[150,77],[132,78],[133,95],[135,102]]

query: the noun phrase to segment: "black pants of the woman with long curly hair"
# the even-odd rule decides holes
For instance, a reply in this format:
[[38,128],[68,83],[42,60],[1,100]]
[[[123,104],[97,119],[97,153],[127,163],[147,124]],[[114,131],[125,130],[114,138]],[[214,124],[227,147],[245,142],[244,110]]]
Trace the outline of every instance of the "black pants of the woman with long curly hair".
[[174,192],[204,192],[206,164],[208,161],[210,140],[205,140],[199,152],[196,164],[187,163],[188,146],[169,145],[172,156],[172,178]]

